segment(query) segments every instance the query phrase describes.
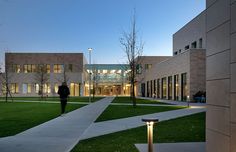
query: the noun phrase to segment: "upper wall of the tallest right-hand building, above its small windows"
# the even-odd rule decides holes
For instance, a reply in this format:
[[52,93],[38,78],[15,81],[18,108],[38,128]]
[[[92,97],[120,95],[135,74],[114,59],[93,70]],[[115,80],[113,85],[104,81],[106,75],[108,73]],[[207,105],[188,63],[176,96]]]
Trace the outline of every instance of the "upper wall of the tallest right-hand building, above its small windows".
[[[174,52],[181,52],[186,51],[185,46],[189,45],[190,48],[191,44],[196,41],[197,47],[196,48],[206,48],[206,14],[205,11],[200,13],[197,17],[187,23],[183,28],[177,31],[173,35],[173,55]],[[199,46],[199,39],[202,38],[202,47]]]

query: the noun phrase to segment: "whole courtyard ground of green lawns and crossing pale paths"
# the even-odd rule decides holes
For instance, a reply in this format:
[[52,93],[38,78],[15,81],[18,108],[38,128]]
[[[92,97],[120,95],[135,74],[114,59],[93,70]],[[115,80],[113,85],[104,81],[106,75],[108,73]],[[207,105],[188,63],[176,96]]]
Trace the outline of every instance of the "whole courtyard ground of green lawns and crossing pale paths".
[[205,142],[204,104],[188,108],[147,98],[133,108],[128,97],[105,97],[70,102],[62,117],[57,101],[30,99],[0,102],[1,151],[138,152],[135,144],[147,142],[141,119],[154,117],[160,121],[154,125],[154,143]]

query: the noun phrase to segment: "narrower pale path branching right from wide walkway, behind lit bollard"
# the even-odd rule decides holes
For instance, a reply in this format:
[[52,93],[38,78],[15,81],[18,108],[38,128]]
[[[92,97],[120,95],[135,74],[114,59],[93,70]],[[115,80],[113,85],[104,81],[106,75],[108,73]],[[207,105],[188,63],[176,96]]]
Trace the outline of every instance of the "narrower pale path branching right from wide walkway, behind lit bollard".
[[96,137],[100,135],[105,135],[105,134],[109,134],[113,132],[118,132],[122,130],[127,130],[131,128],[143,126],[145,124],[142,122],[142,118],[158,118],[159,121],[164,121],[164,120],[183,117],[183,116],[187,116],[187,115],[191,115],[191,114],[195,114],[199,112],[204,112],[204,111],[206,111],[206,109],[203,107],[186,108],[186,109],[180,109],[180,110],[172,110],[172,111],[167,111],[167,112],[129,117],[129,118],[124,118],[124,119],[97,122],[97,123],[93,123],[86,130],[86,132],[82,135],[81,139],[92,138],[92,137]]

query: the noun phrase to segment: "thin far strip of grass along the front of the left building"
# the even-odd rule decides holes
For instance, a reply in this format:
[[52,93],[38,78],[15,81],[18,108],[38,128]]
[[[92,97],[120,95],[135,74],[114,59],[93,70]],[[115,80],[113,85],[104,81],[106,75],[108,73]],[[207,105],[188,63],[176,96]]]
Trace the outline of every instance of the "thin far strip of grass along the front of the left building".
[[[103,97],[93,97],[91,98],[92,102],[98,101]],[[11,101],[11,98],[8,98]],[[5,100],[5,97],[0,97],[0,100]],[[13,97],[13,100],[25,100],[25,101],[60,101],[59,97],[47,97],[41,99],[40,97]],[[89,102],[89,97],[70,97],[68,102]]]

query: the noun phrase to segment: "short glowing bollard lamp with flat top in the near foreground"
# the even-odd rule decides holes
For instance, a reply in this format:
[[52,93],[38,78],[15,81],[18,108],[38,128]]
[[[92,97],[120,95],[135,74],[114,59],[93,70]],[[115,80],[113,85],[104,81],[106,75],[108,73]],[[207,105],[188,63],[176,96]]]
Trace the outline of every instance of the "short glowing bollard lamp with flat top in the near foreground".
[[147,118],[142,119],[143,122],[147,124],[147,140],[148,140],[148,152],[153,152],[153,125],[155,122],[158,122],[158,119]]

